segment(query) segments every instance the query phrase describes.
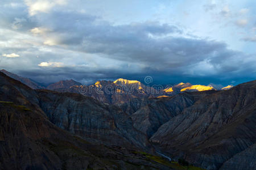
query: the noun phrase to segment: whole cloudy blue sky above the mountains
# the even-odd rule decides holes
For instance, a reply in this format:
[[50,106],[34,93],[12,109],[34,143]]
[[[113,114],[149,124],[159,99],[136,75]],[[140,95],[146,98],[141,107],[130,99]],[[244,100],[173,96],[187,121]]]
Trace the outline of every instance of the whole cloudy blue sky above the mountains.
[[256,1],[1,0],[0,69],[41,83],[256,79]]

